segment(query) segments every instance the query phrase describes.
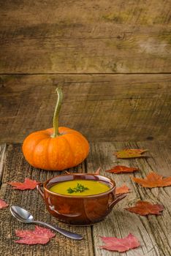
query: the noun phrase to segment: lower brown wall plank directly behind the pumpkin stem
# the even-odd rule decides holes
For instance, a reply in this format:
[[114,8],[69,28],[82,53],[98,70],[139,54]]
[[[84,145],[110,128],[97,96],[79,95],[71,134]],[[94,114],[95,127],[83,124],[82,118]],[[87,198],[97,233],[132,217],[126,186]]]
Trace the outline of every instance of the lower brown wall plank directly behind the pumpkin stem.
[[0,141],[22,143],[52,126],[56,86],[61,126],[88,140],[170,138],[171,75],[1,75]]

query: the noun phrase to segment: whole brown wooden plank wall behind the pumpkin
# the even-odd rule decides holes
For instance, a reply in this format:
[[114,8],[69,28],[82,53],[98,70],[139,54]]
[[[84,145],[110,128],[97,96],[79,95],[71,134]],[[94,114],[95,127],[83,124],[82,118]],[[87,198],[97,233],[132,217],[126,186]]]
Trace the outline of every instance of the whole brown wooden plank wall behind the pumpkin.
[[88,140],[170,137],[170,1],[0,1],[0,141],[61,125]]

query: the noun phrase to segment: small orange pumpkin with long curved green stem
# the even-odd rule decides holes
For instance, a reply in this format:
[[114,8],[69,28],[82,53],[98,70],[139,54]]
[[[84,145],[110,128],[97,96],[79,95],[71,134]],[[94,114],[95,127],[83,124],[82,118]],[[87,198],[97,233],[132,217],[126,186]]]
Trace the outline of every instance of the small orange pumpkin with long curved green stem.
[[23,141],[27,162],[45,170],[64,170],[74,167],[88,156],[86,138],[74,129],[58,127],[62,91],[57,88],[58,100],[53,116],[53,128],[33,132]]

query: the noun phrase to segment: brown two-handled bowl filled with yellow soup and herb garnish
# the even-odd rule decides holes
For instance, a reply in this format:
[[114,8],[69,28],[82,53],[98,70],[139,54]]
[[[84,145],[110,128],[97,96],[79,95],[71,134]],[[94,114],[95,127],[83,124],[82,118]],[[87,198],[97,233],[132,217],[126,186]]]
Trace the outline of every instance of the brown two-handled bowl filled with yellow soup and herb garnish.
[[115,195],[115,181],[93,173],[69,173],[37,185],[47,211],[69,225],[93,225],[126,197]]

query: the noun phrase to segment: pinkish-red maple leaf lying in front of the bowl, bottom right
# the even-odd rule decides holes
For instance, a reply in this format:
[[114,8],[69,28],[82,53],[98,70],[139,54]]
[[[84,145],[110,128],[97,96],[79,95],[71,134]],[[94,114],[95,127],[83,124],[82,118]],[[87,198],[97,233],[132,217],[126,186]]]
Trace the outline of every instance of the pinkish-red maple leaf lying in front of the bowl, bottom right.
[[102,236],[102,241],[105,245],[100,246],[102,249],[107,249],[109,251],[126,252],[129,249],[137,248],[140,246],[139,241],[135,236],[129,233],[125,238],[116,237],[105,237]]

